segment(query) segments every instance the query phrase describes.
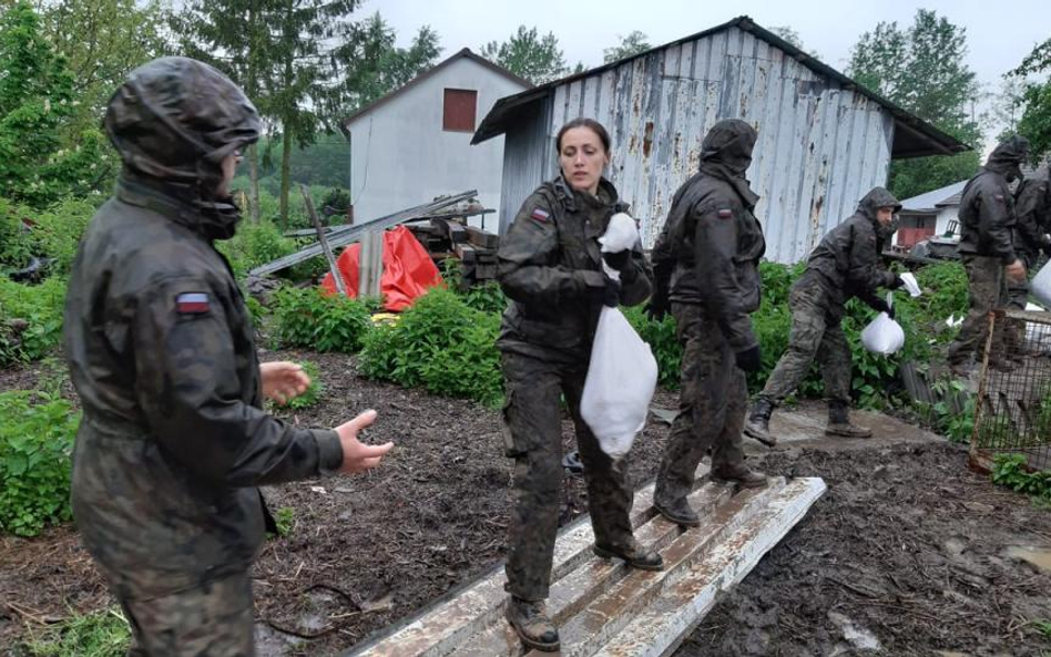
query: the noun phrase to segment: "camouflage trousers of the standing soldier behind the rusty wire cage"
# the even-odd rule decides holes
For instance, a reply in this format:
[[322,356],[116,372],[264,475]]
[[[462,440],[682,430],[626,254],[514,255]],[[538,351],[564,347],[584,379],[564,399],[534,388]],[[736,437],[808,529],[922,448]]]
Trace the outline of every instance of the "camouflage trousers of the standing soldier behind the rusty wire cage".
[[[989,314],[1009,304],[1007,276],[999,258],[961,256],[967,270],[970,307],[956,340],[949,346],[949,362],[963,365],[986,348],[989,337]],[[1026,286],[1028,294],[1029,286]],[[1018,292],[1016,292],[1017,295]],[[1023,304],[1024,307],[1024,304]],[[1004,336],[993,336],[993,343],[1003,345]],[[1010,340],[1010,337],[1008,337]],[[980,357],[979,357],[980,358]]]

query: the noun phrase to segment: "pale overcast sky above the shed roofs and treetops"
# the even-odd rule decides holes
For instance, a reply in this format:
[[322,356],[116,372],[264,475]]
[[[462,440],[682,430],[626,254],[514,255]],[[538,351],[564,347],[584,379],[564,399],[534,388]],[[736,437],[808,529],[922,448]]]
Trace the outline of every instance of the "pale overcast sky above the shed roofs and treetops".
[[398,31],[400,45],[428,24],[441,37],[443,57],[465,47],[478,52],[488,41],[504,41],[520,24],[535,25],[554,32],[569,65],[580,61],[589,68],[601,64],[602,50],[632,30],[659,45],[746,14],[764,28],[790,27],[808,51],[844,71],[863,32],[879,21],[907,28],[919,8],[967,29],[967,63],[988,92],[999,91],[1003,73],[1051,37],[1048,0],[366,0],[358,14],[379,11]]

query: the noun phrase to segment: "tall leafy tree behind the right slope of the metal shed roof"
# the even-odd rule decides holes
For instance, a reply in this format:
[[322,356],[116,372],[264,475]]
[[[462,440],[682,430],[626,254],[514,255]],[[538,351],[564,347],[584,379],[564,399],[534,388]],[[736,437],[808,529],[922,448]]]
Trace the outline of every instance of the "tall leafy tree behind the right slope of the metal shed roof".
[[[982,140],[975,103],[980,89],[963,61],[967,32],[933,11],[920,9],[907,30],[880,22],[861,34],[848,72],[861,84],[972,146]],[[905,198],[968,178],[978,152],[951,157],[895,161],[890,189]]]

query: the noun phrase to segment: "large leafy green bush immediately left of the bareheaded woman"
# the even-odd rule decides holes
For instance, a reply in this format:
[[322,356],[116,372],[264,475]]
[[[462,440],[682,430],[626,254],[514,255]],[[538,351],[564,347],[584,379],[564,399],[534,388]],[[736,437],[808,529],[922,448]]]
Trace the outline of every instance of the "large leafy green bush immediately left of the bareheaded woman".
[[361,371],[498,406],[503,399],[499,331],[499,315],[475,310],[456,292],[432,288],[397,324],[370,332],[361,350]]

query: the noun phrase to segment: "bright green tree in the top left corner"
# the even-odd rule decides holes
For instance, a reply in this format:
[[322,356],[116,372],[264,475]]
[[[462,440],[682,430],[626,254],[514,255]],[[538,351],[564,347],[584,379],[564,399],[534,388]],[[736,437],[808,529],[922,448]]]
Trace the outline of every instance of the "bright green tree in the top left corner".
[[62,138],[74,117],[73,75],[25,0],[0,13],[0,196],[43,207],[104,177],[98,130]]

